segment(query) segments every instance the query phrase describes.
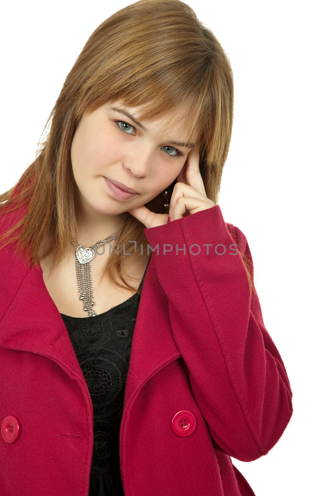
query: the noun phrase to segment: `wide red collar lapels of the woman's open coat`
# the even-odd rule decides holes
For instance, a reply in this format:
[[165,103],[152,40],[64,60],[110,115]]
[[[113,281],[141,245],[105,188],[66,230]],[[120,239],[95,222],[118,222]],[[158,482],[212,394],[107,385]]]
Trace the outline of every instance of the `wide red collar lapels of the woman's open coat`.
[[[133,332],[126,402],[154,372],[181,356],[170,330],[167,300],[153,257],[146,270]],[[0,263],[9,263],[1,252]],[[48,357],[82,379],[66,325],[46,288],[40,264],[28,268],[20,259],[12,263],[16,269],[18,264],[16,276],[19,274],[20,281],[16,281],[15,295],[8,296],[11,302],[4,302],[7,310],[0,322],[0,346]]]

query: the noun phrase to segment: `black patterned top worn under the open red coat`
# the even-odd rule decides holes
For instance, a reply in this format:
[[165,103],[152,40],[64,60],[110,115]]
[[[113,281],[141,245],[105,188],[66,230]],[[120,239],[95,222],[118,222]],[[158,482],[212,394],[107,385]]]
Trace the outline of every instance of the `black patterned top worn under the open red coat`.
[[[150,257],[139,285],[142,289]],[[61,313],[93,405],[89,496],[124,496],[119,435],[140,295],[95,317]]]

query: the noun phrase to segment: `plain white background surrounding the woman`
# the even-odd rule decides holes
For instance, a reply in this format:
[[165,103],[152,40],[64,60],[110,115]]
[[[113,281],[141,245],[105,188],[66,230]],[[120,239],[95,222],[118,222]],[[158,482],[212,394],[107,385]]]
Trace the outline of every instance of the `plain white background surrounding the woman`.
[[[2,5],[0,192],[34,160],[87,38],[130,3]],[[294,413],[277,444],[254,462],[232,461],[257,496],[324,495],[330,443],[327,2],[187,3],[232,65],[234,125],[219,204],[225,221],[248,239],[265,326],[293,390]]]

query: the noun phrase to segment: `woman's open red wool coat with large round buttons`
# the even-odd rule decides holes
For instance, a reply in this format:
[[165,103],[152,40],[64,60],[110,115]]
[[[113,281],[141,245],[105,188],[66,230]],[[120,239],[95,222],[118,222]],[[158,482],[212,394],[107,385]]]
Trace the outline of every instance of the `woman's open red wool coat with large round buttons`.
[[[251,259],[246,237],[218,205],[144,233],[160,250],[132,340],[120,430],[125,495],[254,495],[230,457],[253,461],[275,445],[292,391],[233,254],[237,244]],[[166,244],[173,250],[163,254]],[[28,270],[8,247],[0,301],[0,495],[87,496],[87,384],[41,267]]]

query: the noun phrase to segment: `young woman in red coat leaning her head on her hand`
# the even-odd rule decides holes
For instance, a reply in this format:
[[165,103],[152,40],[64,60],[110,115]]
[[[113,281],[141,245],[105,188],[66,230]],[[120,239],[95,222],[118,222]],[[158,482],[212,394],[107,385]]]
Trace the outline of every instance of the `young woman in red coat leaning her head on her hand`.
[[187,4],[138,1],[51,118],[0,195],[0,494],[254,495],[231,457],[275,445],[292,391],[217,201],[224,50]]

